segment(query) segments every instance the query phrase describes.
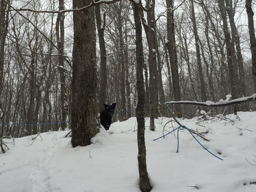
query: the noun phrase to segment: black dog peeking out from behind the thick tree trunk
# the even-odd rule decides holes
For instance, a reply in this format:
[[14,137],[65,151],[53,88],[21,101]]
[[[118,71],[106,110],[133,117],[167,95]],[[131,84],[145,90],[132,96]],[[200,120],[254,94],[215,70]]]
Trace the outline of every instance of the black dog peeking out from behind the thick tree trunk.
[[103,104],[105,109],[100,112],[100,124],[106,129],[109,130],[111,125],[112,116],[115,114],[116,103],[112,105]]

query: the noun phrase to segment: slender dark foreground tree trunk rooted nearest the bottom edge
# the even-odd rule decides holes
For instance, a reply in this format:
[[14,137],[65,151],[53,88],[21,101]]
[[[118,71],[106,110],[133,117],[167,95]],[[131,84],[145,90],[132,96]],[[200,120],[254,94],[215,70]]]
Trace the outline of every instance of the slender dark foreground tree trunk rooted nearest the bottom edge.
[[[140,1],[141,3],[141,1]],[[133,3],[133,14],[136,33],[136,61],[137,61],[137,91],[138,103],[136,107],[136,117],[138,122],[138,166],[140,175],[140,189],[142,192],[151,190],[147,163],[146,163],[146,146],[145,146],[145,90],[143,81],[143,48],[142,48],[142,28],[140,21],[140,6],[141,4]]]

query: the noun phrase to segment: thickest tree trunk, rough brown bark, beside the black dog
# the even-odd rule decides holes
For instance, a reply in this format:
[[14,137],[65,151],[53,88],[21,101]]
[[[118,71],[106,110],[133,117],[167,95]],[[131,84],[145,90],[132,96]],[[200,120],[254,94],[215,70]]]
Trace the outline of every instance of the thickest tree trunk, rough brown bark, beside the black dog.
[[[73,0],[79,9],[90,0]],[[71,82],[71,143],[87,146],[99,132],[94,8],[74,12],[73,77]]]

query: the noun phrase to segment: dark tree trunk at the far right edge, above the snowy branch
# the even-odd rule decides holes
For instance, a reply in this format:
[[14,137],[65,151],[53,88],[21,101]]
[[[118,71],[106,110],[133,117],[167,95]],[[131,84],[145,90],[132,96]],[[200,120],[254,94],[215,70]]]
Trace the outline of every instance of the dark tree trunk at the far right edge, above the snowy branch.
[[254,32],[254,21],[253,21],[253,11],[252,11],[252,0],[246,0],[245,3],[247,18],[248,18],[248,28],[249,36],[251,42],[251,53],[252,53],[252,79],[254,84],[254,91],[256,92],[256,38]]

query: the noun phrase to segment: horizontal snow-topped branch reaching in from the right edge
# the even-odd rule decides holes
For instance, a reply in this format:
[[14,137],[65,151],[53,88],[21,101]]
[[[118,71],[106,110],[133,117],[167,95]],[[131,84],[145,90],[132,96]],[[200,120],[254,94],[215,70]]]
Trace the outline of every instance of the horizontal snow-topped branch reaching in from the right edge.
[[165,105],[179,105],[179,104],[187,104],[187,105],[198,105],[198,106],[206,106],[206,107],[223,107],[223,106],[230,106],[235,105],[238,103],[249,102],[249,101],[256,101],[256,93],[254,93],[250,97],[242,97],[234,100],[220,100],[219,102],[198,102],[198,101],[169,101],[165,102]]

